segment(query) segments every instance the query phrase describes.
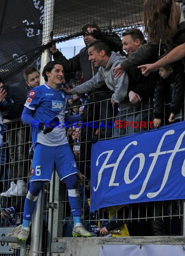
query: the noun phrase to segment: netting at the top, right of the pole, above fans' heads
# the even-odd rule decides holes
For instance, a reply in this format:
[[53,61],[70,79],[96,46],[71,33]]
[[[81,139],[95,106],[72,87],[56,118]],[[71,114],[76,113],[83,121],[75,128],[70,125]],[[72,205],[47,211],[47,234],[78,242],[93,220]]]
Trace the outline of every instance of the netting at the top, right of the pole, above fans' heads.
[[[65,3],[64,3],[65,2]],[[75,36],[85,23],[96,22],[104,31],[142,23],[144,0],[55,0],[54,35]]]

